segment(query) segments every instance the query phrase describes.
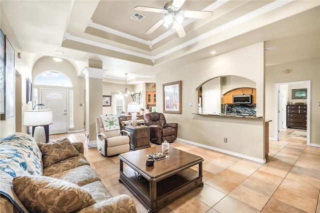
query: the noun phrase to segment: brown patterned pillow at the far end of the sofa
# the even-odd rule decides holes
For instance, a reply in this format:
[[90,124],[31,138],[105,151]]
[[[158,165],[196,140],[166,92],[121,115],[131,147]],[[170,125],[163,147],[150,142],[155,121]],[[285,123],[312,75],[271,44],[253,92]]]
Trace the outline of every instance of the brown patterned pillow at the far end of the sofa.
[[72,146],[67,138],[63,138],[52,143],[37,144],[43,160],[43,167],[48,167],[56,162],[79,155],[79,152]]

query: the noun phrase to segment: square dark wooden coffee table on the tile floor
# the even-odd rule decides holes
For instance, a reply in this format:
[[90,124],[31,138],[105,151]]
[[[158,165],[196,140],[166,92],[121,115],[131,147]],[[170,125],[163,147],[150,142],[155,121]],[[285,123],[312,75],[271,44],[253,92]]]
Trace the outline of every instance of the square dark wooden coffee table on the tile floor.
[[[161,152],[161,146],[118,156],[119,181],[148,208],[149,213],[157,212],[194,188],[203,186],[201,157],[170,147],[167,158],[146,167],[147,154],[154,152]],[[198,171],[190,168],[195,165]]]

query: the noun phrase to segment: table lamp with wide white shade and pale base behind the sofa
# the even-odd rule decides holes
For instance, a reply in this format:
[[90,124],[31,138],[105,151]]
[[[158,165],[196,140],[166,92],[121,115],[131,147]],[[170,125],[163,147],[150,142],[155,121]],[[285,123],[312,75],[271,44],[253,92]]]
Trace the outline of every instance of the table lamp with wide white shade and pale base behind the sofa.
[[52,110],[24,110],[23,125],[35,126],[33,138],[36,143],[45,143],[45,125],[52,124]]

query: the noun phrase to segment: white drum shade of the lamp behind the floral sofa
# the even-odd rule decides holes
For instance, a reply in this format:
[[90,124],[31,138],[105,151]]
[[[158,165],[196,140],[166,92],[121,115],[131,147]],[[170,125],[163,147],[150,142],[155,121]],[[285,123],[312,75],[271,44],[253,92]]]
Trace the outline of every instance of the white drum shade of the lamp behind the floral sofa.
[[24,126],[45,126],[52,124],[52,110],[25,110],[23,112]]

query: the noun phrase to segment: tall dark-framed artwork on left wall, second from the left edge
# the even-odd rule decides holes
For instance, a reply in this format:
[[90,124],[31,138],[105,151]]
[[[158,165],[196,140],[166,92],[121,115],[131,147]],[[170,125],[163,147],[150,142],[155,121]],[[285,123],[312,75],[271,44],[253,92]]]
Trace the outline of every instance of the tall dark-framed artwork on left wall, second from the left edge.
[[4,94],[5,94],[5,110],[1,114],[1,120],[6,120],[14,116],[14,48],[10,43],[9,39],[5,36],[5,85],[4,85]]

